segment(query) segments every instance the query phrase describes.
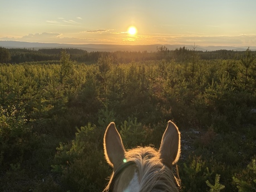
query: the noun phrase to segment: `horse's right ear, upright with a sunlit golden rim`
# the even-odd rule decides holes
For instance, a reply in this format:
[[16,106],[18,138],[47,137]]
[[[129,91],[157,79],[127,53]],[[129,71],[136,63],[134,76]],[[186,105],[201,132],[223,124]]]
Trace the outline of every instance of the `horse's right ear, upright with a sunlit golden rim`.
[[171,121],[168,121],[168,126],[162,137],[159,152],[163,163],[169,168],[179,160],[180,131]]

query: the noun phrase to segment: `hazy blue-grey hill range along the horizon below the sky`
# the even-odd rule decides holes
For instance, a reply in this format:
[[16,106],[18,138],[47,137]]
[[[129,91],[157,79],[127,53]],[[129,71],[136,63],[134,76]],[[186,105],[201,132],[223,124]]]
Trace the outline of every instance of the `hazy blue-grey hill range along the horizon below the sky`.
[[[169,50],[186,47],[189,50],[193,45],[100,45],[100,44],[62,44],[62,43],[37,43],[37,42],[21,42],[21,41],[0,41],[0,47],[5,48],[80,48],[88,52],[92,51],[156,51],[156,47],[165,46]],[[216,50],[234,50],[245,51],[248,47],[231,47],[231,46],[196,46],[196,51],[216,51]],[[250,50],[256,51],[256,47],[250,47]]]

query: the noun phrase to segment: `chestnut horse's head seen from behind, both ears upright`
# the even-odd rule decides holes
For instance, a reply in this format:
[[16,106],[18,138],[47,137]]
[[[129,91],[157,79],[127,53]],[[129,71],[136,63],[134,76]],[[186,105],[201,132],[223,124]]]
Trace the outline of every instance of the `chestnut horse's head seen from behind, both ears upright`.
[[158,151],[151,146],[125,150],[111,122],[104,135],[104,153],[114,171],[103,192],[179,191],[173,165],[180,157],[180,132],[172,121],[168,121]]

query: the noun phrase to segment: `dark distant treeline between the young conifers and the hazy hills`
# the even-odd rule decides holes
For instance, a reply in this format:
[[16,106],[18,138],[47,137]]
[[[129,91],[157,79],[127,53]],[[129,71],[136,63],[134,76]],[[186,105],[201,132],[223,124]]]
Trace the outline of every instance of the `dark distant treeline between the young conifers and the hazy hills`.
[[196,47],[189,50],[186,47],[169,50],[165,46],[156,47],[156,51],[115,51],[115,52],[87,52],[77,48],[43,48],[40,50],[31,50],[26,48],[0,48],[0,61],[3,63],[22,63],[22,62],[37,62],[37,61],[58,61],[60,60],[61,51],[66,50],[70,54],[72,61],[93,63],[97,62],[101,56],[111,56],[114,58],[114,63],[129,63],[131,61],[150,61],[150,60],[175,60],[184,62],[190,60],[195,53],[203,60],[213,59],[239,59],[244,53],[242,51],[196,51]]

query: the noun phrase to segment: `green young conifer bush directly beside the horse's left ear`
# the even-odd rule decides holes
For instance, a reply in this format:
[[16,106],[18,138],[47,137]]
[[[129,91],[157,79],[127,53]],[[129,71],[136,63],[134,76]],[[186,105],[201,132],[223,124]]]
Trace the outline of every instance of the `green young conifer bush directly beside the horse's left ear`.
[[110,175],[102,147],[104,130],[88,123],[76,137],[57,147],[52,171],[61,174],[62,186],[70,191],[100,191]]

